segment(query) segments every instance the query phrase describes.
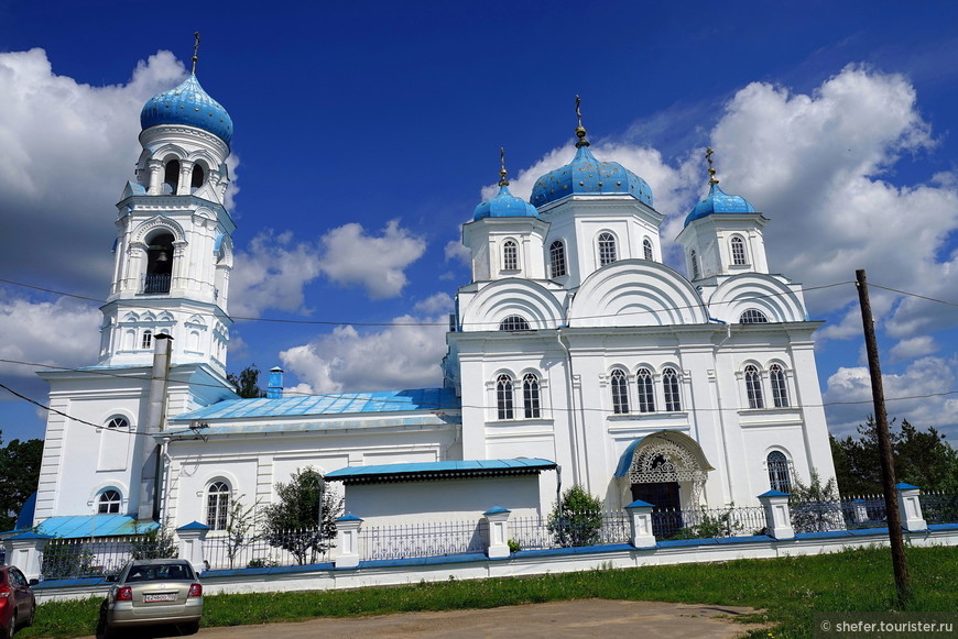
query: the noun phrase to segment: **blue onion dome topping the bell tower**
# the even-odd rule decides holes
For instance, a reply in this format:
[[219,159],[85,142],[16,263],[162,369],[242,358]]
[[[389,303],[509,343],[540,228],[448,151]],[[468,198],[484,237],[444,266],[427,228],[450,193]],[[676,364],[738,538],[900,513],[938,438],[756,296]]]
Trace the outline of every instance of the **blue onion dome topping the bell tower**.
[[232,140],[232,119],[203,90],[193,74],[178,87],[156,93],[143,106],[140,125],[145,130],[156,124],[186,124],[213,133],[227,144]]

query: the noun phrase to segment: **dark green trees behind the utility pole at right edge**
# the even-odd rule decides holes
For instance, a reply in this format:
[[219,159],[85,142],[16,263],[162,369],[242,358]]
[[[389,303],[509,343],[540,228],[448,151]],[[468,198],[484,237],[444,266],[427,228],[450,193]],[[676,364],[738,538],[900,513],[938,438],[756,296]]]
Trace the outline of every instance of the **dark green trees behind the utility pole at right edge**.
[[[919,430],[904,419],[889,429],[895,480],[914,484],[923,491],[958,493],[958,452],[935,427]],[[859,437],[831,438],[831,456],[838,487],[845,495],[867,495],[882,492],[881,456],[878,449],[878,427],[869,416],[858,427]]]

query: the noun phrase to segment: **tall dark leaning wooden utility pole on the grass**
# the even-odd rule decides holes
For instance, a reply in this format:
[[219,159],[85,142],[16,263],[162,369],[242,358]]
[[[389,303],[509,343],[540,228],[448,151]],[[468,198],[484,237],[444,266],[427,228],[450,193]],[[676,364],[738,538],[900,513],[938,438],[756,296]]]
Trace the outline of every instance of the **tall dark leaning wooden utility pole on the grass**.
[[902,539],[902,519],[895,493],[895,464],[892,458],[892,438],[889,434],[889,414],[885,410],[885,393],[882,386],[882,370],[874,337],[874,318],[868,298],[868,279],[864,269],[854,272],[858,300],[861,305],[861,323],[864,329],[864,348],[868,353],[868,370],[871,375],[871,395],[874,401],[874,421],[879,440],[879,456],[882,462],[882,489],[885,495],[885,514],[889,524],[889,540],[892,547],[892,565],[895,571],[895,588],[899,607],[912,597],[912,577],[905,559],[905,542]]

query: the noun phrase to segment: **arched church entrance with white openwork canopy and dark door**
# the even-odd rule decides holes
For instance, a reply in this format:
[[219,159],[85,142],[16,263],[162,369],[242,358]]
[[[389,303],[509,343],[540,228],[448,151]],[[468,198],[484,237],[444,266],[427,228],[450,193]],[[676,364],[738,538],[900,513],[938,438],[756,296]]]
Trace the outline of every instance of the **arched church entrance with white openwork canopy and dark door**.
[[667,539],[685,526],[682,511],[700,506],[712,470],[698,442],[687,434],[662,430],[625,449],[616,477],[627,498],[654,506],[652,531],[656,538]]

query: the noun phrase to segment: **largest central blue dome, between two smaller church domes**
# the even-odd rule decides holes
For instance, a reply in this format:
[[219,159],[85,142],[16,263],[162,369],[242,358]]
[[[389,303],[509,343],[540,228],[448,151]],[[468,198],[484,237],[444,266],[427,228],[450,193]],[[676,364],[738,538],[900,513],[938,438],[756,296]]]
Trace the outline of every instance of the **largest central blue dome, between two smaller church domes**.
[[588,145],[579,146],[569,164],[538,178],[531,201],[541,207],[573,194],[629,194],[652,206],[652,189],[644,179],[618,162],[599,162]]

